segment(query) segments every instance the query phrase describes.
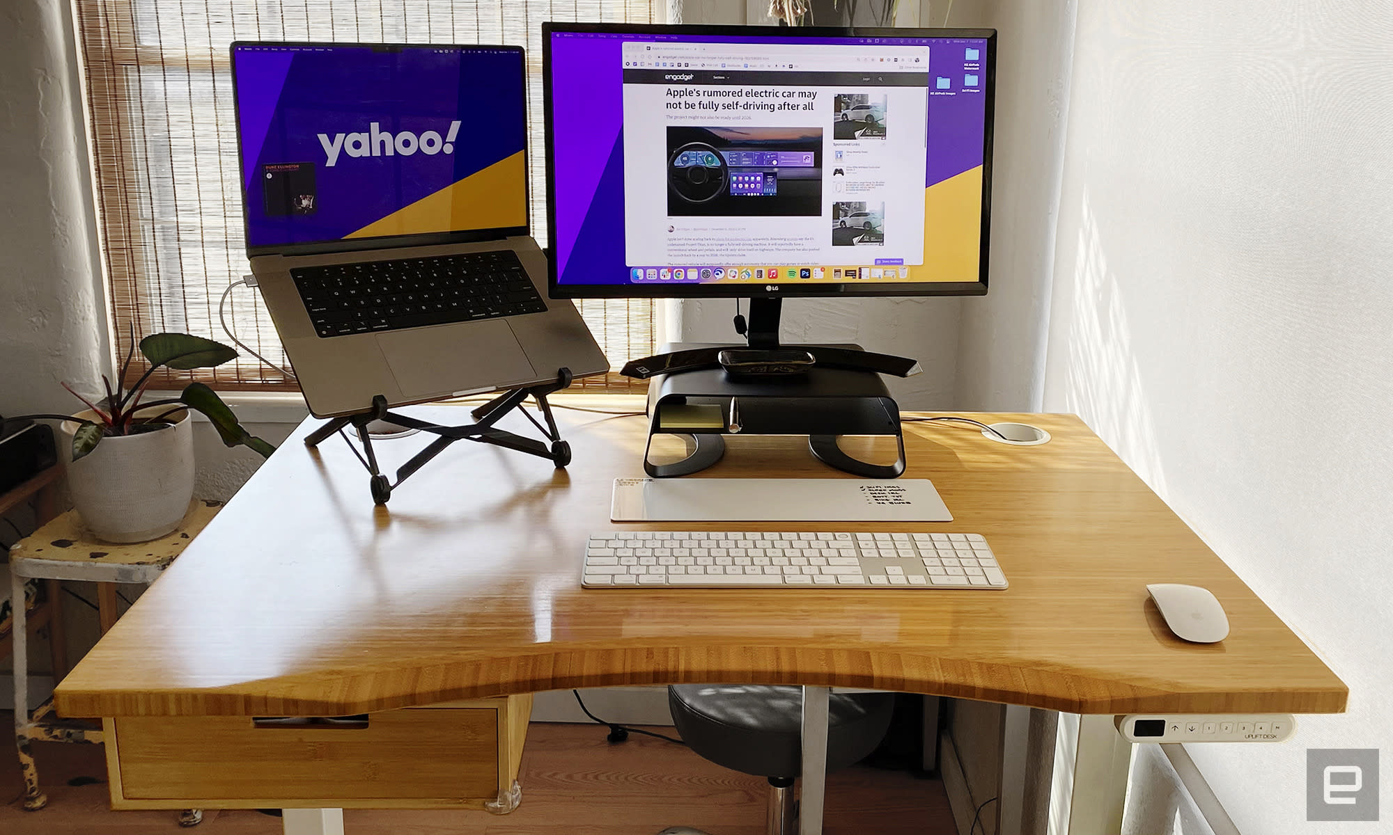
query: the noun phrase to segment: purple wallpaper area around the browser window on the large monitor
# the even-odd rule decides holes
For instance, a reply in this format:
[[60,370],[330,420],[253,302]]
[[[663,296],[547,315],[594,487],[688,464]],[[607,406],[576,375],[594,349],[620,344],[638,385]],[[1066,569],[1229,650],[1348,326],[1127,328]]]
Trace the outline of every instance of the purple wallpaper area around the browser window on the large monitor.
[[[624,259],[624,60],[631,40],[678,43],[787,43],[780,38],[648,33],[552,33],[552,159],[549,199],[556,217],[552,228],[559,284],[628,284]],[[818,38],[818,43],[866,43],[864,38]],[[986,39],[905,38],[880,43],[929,45],[929,90],[939,75],[963,81],[964,50],[979,49],[986,88]],[[925,188],[982,164],[986,93],[928,95]]]

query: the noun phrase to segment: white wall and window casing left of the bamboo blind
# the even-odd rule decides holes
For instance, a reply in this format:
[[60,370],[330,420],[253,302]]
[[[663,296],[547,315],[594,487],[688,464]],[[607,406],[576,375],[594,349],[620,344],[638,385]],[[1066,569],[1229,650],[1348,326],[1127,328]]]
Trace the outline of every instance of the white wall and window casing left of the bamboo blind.
[[65,3],[0,4],[0,413],[81,409],[109,367]]

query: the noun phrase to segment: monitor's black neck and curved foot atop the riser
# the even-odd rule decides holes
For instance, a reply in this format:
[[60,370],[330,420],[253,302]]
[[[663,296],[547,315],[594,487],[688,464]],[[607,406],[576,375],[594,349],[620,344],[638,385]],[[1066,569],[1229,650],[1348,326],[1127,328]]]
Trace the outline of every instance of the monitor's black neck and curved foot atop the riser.
[[702,345],[699,348],[684,348],[642,359],[631,359],[620,373],[625,377],[648,380],[659,374],[719,369],[720,360],[717,356],[722,351],[730,348],[749,348],[769,352],[795,348],[812,355],[814,367],[843,369],[847,372],[873,372],[878,374],[910,377],[924,370],[914,359],[862,351],[855,345],[780,345],[779,315],[781,309],[783,299],[752,298],[749,299],[749,324],[744,331],[747,345]]

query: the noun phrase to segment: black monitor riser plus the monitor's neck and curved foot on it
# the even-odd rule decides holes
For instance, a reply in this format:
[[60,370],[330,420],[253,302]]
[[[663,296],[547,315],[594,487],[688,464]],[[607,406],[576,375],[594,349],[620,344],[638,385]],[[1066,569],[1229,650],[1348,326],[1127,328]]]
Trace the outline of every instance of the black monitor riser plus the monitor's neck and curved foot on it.
[[[766,305],[758,303],[766,302]],[[770,309],[772,306],[772,309]],[[751,303],[749,345],[669,345],[669,352],[624,366],[631,377],[660,376],[648,390],[648,445],[644,470],[653,477],[703,470],[726,452],[727,434],[805,434],[814,456],[855,476],[894,479],[904,473],[900,409],[882,373],[918,373],[912,359],[871,353],[857,345],[779,345],[779,299]],[[722,351],[807,351],[815,363],[795,374],[738,377],[716,359]],[[642,369],[642,372],[639,372]],[[687,458],[652,461],[653,436],[678,436]],[[848,455],[840,436],[889,436],[896,440],[893,463],[871,463]]]

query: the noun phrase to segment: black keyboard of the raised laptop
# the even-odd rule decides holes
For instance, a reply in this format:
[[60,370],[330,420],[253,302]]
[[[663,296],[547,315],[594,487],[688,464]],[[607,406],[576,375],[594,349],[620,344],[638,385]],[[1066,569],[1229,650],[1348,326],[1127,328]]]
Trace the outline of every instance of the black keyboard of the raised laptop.
[[290,271],[320,337],[542,313],[511,249]]

